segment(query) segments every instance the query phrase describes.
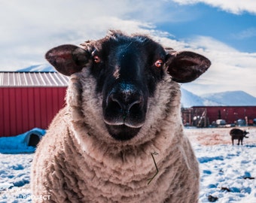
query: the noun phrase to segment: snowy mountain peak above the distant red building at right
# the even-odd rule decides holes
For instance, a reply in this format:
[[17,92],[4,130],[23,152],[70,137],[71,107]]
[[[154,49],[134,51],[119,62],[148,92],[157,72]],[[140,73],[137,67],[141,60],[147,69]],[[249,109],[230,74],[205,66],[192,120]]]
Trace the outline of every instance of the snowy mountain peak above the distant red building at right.
[[203,99],[229,106],[255,106],[256,98],[243,91],[218,92],[201,95]]

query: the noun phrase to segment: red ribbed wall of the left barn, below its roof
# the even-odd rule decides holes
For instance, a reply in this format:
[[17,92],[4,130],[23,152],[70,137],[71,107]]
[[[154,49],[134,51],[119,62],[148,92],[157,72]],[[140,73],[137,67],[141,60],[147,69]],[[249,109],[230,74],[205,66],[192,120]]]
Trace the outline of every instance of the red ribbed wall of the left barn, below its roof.
[[66,87],[0,88],[0,137],[47,129],[65,105]]

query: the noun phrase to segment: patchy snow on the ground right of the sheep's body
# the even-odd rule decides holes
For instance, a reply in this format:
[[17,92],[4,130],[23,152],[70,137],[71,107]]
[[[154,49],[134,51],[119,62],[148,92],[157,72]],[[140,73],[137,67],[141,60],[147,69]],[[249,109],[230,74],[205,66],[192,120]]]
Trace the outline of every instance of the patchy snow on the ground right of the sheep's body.
[[194,146],[200,162],[200,201],[256,202],[256,144]]

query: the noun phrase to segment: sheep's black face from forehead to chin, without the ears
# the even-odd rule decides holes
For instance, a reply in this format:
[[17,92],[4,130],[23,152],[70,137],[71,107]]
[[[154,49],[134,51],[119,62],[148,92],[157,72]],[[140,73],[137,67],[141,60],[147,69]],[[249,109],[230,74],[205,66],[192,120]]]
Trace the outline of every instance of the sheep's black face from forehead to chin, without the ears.
[[103,120],[115,139],[133,138],[143,126],[165,57],[163,47],[145,36],[110,38],[94,47],[91,73],[102,93]]

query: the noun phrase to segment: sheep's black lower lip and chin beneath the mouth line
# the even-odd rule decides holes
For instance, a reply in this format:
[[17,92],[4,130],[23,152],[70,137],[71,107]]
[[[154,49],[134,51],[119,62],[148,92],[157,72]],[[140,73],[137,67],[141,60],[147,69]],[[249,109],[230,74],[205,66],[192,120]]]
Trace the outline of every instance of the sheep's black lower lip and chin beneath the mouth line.
[[106,124],[109,134],[117,141],[128,141],[134,138],[141,127],[132,128],[126,125],[108,125]]

